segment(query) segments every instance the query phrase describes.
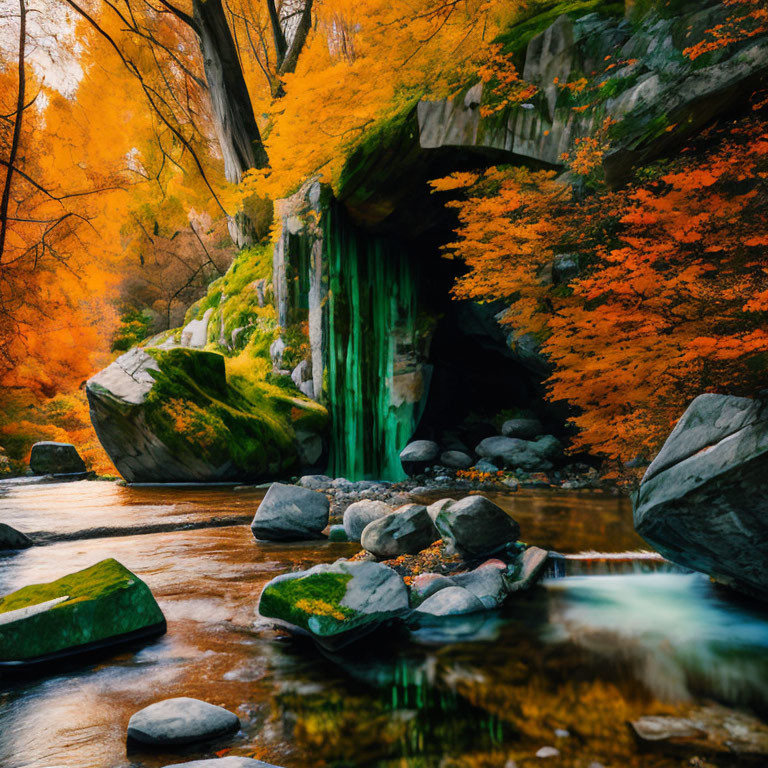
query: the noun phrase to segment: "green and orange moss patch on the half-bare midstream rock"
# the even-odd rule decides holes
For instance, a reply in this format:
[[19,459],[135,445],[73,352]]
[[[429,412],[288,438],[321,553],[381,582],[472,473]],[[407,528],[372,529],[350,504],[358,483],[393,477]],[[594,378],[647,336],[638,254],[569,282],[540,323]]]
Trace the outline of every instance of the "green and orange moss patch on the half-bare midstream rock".
[[355,611],[341,605],[351,578],[350,574],[313,573],[271,582],[262,593],[259,611],[314,634],[336,634],[348,629],[357,617]]

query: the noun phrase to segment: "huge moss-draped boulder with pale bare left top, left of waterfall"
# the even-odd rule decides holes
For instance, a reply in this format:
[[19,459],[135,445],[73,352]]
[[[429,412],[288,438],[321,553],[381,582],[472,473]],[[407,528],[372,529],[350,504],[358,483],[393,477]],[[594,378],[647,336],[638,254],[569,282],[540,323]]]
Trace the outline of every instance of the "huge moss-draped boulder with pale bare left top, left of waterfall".
[[[88,381],[91,420],[129,482],[279,476],[320,439],[325,409],[260,376],[258,359],[183,347],[122,355]],[[263,372],[262,372],[263,373]]]

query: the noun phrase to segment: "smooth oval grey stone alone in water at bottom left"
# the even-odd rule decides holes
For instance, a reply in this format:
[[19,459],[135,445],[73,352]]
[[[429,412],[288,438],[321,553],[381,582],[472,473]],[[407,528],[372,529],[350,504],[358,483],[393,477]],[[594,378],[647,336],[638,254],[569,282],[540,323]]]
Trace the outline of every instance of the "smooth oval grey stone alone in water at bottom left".
[[128,722],[128,738],[152,746],[209,741],[236,733],[237,715],[200,699],[165,699],[139,710]]

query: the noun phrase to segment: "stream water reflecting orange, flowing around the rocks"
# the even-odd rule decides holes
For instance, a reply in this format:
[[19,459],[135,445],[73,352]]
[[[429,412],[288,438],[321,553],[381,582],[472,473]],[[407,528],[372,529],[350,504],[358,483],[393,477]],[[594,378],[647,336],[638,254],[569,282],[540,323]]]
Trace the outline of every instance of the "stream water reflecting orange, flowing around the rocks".
[[[0,679],[2,768],[151,768],[217,753],[286,768],[721,766],[641,752],[627,721],[709,702],[768,714],[768,616],[704,576],[628,555],[644,545],[625,499],[496,497],[526,541],[566,556],[564,578],[500,612],[328,655],[276,633],[255,607],[273,576],[356,546],[256,544],[243,521],[260,498],[97,482],[0,491],[0,520],[51,542],[0,557],[0,593],[115,557],[168,619],[159,639],[47,677]],[[241,732],[127,753],[131,714],[172,696],[228,707]],[[539,759],[542,747],[560,754]]]

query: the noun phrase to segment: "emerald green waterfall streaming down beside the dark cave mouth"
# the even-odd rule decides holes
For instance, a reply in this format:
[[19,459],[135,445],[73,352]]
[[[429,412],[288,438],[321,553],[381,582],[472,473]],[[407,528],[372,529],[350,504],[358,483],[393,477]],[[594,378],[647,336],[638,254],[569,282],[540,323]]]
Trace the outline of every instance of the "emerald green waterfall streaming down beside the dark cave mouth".
[[425,399],[409,401],[394,384],[413,369],[415,266],[395,242],[356,230],[339,206],[326,213],[324,228],[329,470],[351,480],[402,479],[399,453]]

